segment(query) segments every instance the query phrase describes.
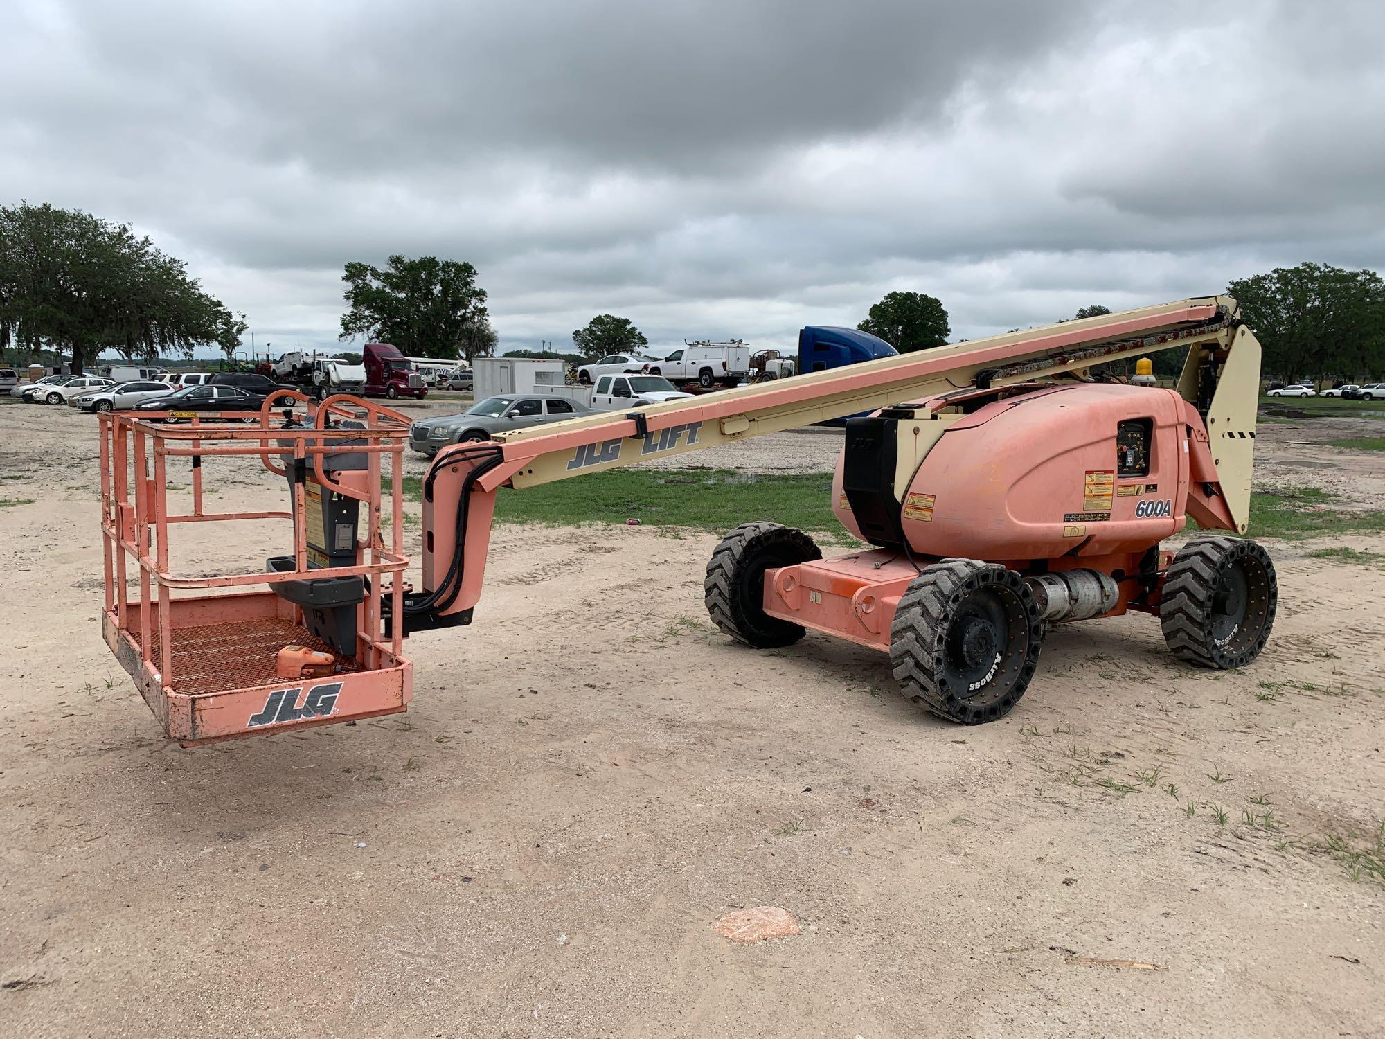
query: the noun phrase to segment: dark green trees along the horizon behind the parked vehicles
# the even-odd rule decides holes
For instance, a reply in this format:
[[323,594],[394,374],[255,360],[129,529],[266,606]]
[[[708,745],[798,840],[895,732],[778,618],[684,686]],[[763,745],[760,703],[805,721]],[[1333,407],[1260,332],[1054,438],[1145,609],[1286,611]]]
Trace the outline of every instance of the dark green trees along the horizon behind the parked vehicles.
[[[493,353],[499,337],[478,277],[471,263],[436,256],[393,255],[384,267],[346,263],[339,338],[379,339],[409,356],[443,360]],[[1234,280],[1226,291],[1265,348],[1266,375],[1385,375],[1385,281],[1374,270],[1301,263]],[[1109,310],[1096,303],[1075,317],[1102,313]],[[951,334],[942,301],[910,291],[886,292],[856,327],[902,353],[940,346]],[[0,355],[66,350],[80,371],[111,348],[130,360],[191,357],[206,345],[230,356],[245,330],[245,316],[205,292],[183,260],[126,224],[47,204],[0,208]],[[630,319],[601,313],[572,331],[571,352],[511,356],[591,360],[648,344]],[[1177,359],[1161,355],[1155,363],[1163,371]]]

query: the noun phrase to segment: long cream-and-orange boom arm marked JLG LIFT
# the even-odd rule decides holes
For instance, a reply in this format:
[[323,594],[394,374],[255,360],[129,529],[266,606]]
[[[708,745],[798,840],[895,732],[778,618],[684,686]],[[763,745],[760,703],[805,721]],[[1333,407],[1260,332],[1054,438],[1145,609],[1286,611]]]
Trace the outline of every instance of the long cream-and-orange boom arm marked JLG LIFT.
[[503,486],[537,486],[951,391],[1032,382],[1183,346],[1190,349],[1179,392],[1205,423],[1201,431],[1190,427],[1188,510],[1205,526],[1244,532],[1260,348],[1234,299],[1205,296],[443,449],[424,479],[424,590],[406,597],[403,628],[470,622],[481,597],[494,496]]

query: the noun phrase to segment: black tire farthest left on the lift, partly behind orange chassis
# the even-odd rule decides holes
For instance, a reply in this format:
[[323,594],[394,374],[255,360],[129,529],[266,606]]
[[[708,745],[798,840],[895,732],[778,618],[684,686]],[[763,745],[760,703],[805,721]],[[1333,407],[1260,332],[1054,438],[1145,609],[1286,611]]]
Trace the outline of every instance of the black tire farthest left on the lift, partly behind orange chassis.
[[802,531],[763,520],[741,524],[722,539],[706,564],[702,601],[712,623],[760,650],[796,643],[803,637],[802,625],[765,612],[765,571],[820,558],[821,549]]

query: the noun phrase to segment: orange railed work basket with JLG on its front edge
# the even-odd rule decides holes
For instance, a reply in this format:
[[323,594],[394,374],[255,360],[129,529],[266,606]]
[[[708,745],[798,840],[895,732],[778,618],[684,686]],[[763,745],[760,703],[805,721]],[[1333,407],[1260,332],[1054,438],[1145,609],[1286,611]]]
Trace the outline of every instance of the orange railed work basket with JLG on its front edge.
[[[349,396],[270,400],[258,413],[100,416],[102,633],[184,747],[397,713],[413,693],[403,626],[388,623],[403,614],[409,564],[409,418]],[[208,511],[204,474],[234,457],[258,459],[291,507]],[[191,511],[175,513],[169,479],[184,465]],[[181,550],[184,538],[244,520],[285,521],[284,540],[263,546],[284,554],[266,562],[260,550],[229,575],[170,569],[175,529]],[[285,677],[285,647],[331,664]]]

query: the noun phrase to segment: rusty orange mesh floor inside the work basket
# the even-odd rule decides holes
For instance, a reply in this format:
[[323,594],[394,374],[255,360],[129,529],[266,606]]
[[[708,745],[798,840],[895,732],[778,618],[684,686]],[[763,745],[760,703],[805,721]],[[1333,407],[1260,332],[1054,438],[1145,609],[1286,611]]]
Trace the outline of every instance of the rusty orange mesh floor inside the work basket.
[[[150,630],[150,639],[154,641],[154,666],[162,671],[158,615],[155,614],[151,619],[155,621]],[[140,641],[138,625],[130,630],[130,636],[136,643]],[[176,628],[173,630],[173,691],[195,697],[229,689],[281,686],[284,679],[274,673],[274,658],[285,646],[331,651],[327,643],[309,634],[306,628],[283,618],[267,616],[204,628]],[[353,662],[342,661],[342,671],[360,671],[360,668]]]

